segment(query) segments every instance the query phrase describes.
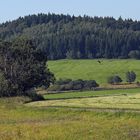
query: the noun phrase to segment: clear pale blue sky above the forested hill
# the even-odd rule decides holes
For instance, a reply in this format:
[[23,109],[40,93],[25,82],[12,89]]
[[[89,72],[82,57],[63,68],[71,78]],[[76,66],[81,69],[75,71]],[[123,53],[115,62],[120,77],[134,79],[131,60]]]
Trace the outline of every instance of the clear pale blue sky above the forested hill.
[[25,15],[56,13],[140,20],[140,0],[0,0],[0,23]]

